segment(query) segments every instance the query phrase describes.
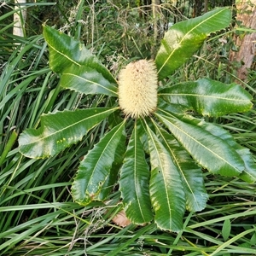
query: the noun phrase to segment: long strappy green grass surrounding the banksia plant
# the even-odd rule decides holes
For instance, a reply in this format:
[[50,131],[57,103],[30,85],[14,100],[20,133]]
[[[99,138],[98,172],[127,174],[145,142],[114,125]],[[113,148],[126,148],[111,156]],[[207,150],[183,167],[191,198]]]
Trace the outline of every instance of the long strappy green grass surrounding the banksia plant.
[[[210,196],[207,208],[187,212],[182,232],[158,230],[154,224],[121,228],[111,221],[121,209],[117,187],[109,195],[108,205],[95,202],[80,207],[70,194],[79,159],[101,136],[104,124],[55,157],[31,160],[21,156],[17,137],[26,128],[37,127],[42,113],[97,106],[105,104],[105,99],[61,90],[58,76],[49,70],[43,37],[14,37],[8,32],[9,24],[5,24],[8,16],[0,18],[0,255],[256,254],[255,184],[206,173]],[[79,37],[75,28],[73,32]],[[226,59],[211,61],[219,53],[217,44],[218,38],[208,42],[200,58],[195,56],[194,63],[189,61],[180,69],[173,82],[205,75],[230,81],[232,76],[225,72]],[[212,47],[210,55],[208,46]],[[119,56],[108,47],[102,45],[96,54],[106,55],[107,51],[112,60]],[[125,58],[118,57],[117,61]],[[246,86],[254,95],[255,74]],[[212,121],[232,132],[255,156],[255,119],[253,108],[247,114]]]

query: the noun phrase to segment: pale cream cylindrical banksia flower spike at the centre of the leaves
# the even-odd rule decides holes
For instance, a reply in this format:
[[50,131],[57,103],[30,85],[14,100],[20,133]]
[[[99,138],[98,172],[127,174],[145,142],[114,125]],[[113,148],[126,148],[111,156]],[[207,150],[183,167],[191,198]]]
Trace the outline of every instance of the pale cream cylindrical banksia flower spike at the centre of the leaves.
[[119,73],[119,106],[126,116],[139,118],[157,105],[157,71],[154,61],[129,63]]

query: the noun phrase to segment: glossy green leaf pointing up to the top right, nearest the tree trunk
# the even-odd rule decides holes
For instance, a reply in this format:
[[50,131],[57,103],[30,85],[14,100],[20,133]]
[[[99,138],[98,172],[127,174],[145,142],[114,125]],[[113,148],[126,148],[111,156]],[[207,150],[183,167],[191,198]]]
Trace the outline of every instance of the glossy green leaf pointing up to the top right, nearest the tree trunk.
[[230,25],[231,12],[228,8],[213,9],[195,19],[174,24],[165,34],[155,63],[159,79],[173,73],[201,48],[211,32],[217,32]]

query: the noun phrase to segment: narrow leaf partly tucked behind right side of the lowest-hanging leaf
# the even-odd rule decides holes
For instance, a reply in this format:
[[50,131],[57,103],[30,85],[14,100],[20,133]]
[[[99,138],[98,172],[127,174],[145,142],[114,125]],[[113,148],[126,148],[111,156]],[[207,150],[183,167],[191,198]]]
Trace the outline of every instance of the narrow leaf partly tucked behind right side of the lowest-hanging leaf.
[[183,189],[186,197],[186,207],[190,212],[199,212],[207,206],[207,190],[201,168],[195,165],[195,161],[177,143],[172,135],[164,129],[155,125],[157,135],[161,143],[166,147],[172,156],[172,160],[177,166],[183,181]]

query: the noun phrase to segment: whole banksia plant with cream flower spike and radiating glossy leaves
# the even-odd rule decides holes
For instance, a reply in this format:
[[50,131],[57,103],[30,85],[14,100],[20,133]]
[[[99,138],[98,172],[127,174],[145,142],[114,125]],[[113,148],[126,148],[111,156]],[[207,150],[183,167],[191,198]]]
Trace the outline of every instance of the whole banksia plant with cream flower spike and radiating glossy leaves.
[[207,36],[229,26],[230,20],[230,10],[221,8],[173,25],[155,60],[131,62],[118,80],[84,45],[44,26],[49,67],[61,74],[61,86],[105,97],[98,108],[44,114],[38,129],[20,134],[21,154],[58,154],[105,120],[111,129],[104,129],[104,136],[81,161],[73,200],[82,206],[104,201],[119,183],[132,223],[154,221],[163,230],[182,230],[185,210],[198,212],[207,204],[202,169],[248,183],[256,180],[249,149],[203,118],[247,112],[252,96],[238,84],[212,79],[166,84]]

